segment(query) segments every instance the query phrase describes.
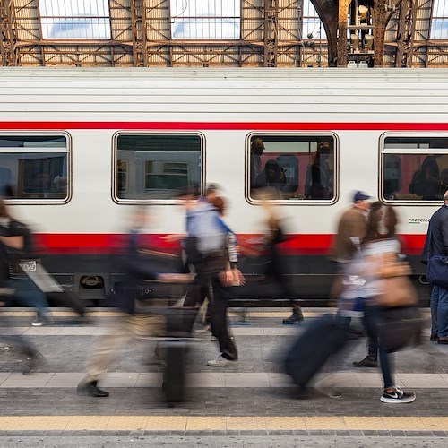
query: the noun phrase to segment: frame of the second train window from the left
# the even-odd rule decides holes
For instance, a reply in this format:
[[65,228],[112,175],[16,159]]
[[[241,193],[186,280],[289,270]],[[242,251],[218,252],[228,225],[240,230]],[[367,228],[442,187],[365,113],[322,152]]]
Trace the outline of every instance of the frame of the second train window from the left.
[[[200,151],[199,151],[199,194],[204,193],[205,189],[205,164],[206,164],[206,150],[205,150],[205,135],[198,131],[178,131],[178,132],[157,132],[157,131],[127,131],[120,130],[117,131],[112,137],[112,180],[111,180],[111,195],[112,200],[117,204],[144,204],[151,203],[153,205],[178,205],[182,203],[182,199],[179,198],[169,198],[169,199],[161,199],[161,198],[120,198],[118,197],[118,181],[117,181],[117,169],[116,164],[118,161],[118,138],[122,135],[145,135],[145,136],[196,136],[199,137],[200,141]],[[146,179],[147,173],[144,173],[144,178]],[[126,177],[129,178],[129,172],[126,174]]]

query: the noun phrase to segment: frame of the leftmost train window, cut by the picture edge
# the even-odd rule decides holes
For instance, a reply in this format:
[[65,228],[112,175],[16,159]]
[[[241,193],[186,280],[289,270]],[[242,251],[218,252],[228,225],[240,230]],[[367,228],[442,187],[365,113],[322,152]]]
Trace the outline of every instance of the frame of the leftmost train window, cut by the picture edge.
[[[64,153],[66,162],[66,192],[65,197],[4,197],[4,201],[13,205],[64,205],[72,200],[73,196],[73,141],[72,135],[65,131],[2,131],[0,132],[1,137],[64,137],[65,146],[64,147],[45,147],[36,145],[30,146],[11,146],[11,147],[0,147],[0,157],[1,154],[58,154]],[[19,174],[18,174],[19,176]],[[18,179],[18,182],[20,179]],[[47,192],[46,194],[53,194]],[[56,194],[56,193],[55,193]],[[32,193],[30,194],[32,195]]]

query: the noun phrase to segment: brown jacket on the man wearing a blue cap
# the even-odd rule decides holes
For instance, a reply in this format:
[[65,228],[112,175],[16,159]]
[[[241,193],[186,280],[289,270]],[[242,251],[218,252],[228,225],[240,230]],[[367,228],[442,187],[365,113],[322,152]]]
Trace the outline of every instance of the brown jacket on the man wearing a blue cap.
[[334,240],[332,259],[344,263],[351,260],[357,250],[350,237],[363,238],[366,236],[367,217],[363,211],[351,208],[340,218],[338,233]]

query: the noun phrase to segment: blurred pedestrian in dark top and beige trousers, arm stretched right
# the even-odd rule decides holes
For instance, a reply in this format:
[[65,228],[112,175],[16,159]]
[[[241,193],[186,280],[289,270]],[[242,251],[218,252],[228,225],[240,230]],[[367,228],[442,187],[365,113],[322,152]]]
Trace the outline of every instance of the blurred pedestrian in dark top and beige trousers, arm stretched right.
[[[125,274],[125,280],[119,295],[119,306],[125,312],[121,316],[113,331],[99,339],[98,344],[90,354],[87,361],[86,374],[78,384],[78,393],[93,397],[108,397],[109,392],[99,389],[98,382],[100,376],[107,370],[116,350],[125,347],[125,344],[136,334],[135,302],[138,298],[139,288],[144,280],[159,280],[168,282],[185,282],[191,280],[188,274],[161,274],[154,272],[151,266],[151,259],[141,253],[142,247],[141,232],[147,220],[146,210],[135,209],[132,214],[132,222],[125,244],[125,254],[122,259],[121,269]],[[151,330],[153,336],[163,336],[164,328],[160,322],[153,322],[154,328]]]

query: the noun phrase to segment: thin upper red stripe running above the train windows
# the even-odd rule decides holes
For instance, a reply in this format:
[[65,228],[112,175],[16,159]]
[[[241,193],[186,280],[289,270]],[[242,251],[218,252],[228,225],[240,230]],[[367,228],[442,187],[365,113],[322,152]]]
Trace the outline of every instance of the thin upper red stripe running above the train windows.
[[448,123],[263,123],[263,122],[131,122],[131,121],[4,121],[3,130],[247,130],[256,131],[448,131]]

